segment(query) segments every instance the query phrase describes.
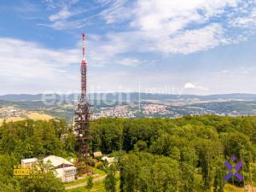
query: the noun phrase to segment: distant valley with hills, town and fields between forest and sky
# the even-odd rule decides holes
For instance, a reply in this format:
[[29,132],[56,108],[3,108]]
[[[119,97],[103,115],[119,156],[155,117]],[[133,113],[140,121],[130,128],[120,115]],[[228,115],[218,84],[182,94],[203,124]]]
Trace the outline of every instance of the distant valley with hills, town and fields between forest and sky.
[[[108,93],[90,94],[95,117],[160,117],[177,118],[184,115],[217,114],[227,116],[256,115],[256,94],[224,94],[211,96],[165,95],[146,93]],[[73,122],[74,108],[78,95],[55,98],[48,95],[5,95],[0,96],[0,119],[16,117],[15,112],[37,112],[48,114],[41,117],[32,115],[31,119],[50,119],[50,117],[67,119]],[[49,99],[45,101],[45,99]],[[122,106],[121,108],[119,108]],[[16,119],[13,119],[16,120]],[[19,119],[18,119],[19,120]],[[1,123],[1,121],[0,121]]]

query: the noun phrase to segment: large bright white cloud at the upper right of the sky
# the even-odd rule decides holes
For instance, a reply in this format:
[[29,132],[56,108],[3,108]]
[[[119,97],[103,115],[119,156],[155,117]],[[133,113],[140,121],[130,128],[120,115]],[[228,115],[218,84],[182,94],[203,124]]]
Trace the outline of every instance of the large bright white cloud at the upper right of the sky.
[[[129,39],[131,49],[135,48],[137,51],[189,54],[247,40],[243,32],[237,32],[234,36],[235,33],[229,31],[229,23],[224,19],[229,9],[232,13],[230,19],[236,20],[244,10],[240,9],[241,3],[245,7],[248,5],[247,1],[142,0],[128,5],[124,0],[104,2],[103,4],[110,5],[100,15],[107,24],[125,20],[130,25],[125,32],[113,32],[113,35],[123,37],[122,44],[127,44]],[[253,16],[243,22],[252,20]]]

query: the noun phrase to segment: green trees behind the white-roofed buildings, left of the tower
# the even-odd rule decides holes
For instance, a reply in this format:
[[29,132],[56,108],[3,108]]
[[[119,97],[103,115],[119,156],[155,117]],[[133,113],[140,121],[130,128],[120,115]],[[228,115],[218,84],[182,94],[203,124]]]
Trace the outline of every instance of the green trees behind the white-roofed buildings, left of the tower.
[[4,123],[0,127],[0,153],[18,159],[46,156],[73,156],[75,138],[63,120]]

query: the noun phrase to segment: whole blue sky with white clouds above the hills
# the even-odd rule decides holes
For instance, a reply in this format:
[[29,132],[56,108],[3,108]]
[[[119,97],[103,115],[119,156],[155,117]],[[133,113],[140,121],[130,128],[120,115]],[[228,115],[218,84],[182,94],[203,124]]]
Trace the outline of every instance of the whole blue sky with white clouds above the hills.
[[0,0],[0,95],[256,94],[256,0]]

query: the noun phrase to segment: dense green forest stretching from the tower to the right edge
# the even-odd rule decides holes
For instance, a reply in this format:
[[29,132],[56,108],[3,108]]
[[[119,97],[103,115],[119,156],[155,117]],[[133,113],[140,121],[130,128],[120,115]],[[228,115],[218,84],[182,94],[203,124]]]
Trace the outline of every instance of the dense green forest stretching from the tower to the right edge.
[[[91,135],[94,151],[110,153],[120,149],[129,152],[121,155],[119,160],[120,191],[197,192],[214,189],[222,192],[226,174],[223,164],[232,155],[244,162],[246,183],[235,178],[237,185],[247,184],[249,176],[255,175],[256,117],[205,115],[179,119],[97,119],[91,127]],[[154,156],[150,156],[152,154]],[[248,173],[250,158],[253,161],[251,174]],[[166,164],[154,159],[170,160],[171,167],[162,167]],[[173,166],[176,183],[165,183],[160,177],[165,175],[162,170],[171,172]],[[169,189],[169,185],[172,188]]]

